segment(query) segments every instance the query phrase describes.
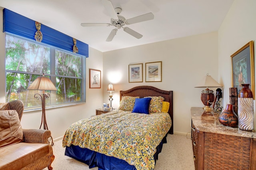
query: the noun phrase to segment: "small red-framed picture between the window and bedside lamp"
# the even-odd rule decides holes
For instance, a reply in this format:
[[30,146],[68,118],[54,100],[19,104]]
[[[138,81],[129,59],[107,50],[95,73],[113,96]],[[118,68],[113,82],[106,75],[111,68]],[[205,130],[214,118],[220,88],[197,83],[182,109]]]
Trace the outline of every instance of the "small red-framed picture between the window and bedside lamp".
[[96,69],[89,69],[89,84],[90,89],[101,88],[101,71]]

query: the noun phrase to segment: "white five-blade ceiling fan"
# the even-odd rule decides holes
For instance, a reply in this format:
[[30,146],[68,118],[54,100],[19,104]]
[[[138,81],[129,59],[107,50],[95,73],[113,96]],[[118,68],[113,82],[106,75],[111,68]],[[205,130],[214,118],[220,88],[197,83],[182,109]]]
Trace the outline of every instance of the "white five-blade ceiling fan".
[[154,19],[154,14],[151,12],[148,14],[143,14],[141,16],[136,16],[134,18],[130,18],[126,20],[123,16],[120,15],[122,12],[122,8],[114,8],[112,2],[110,0],[101,0],[103,5],[105,6],[106,10],[111,16],[110,24],[108,23],[81,23],[81,26],[83,27],[91,27],[91,26],[114,26],[115,29],[113,29],[108,38],[106,39],[107,42],[111,42],[116,35],[116,32],[120,29],[123,28],[124,32],[127,32],[131,36],[134,36],[135,38],[142,38],[142,35],[139,34],[138,32],[128,28],[124,27],[125,25],[129,24],[134,24],[138,22],[143,22],[143,21],[148,21],[148,20],[153,20]]

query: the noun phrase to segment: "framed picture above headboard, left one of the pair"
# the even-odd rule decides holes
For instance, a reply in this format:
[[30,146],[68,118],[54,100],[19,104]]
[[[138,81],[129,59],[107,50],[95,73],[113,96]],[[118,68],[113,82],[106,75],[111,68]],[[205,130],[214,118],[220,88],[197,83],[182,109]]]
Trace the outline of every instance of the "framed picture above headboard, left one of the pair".
[[129,83],[143,82],[143,64],[129,65]]

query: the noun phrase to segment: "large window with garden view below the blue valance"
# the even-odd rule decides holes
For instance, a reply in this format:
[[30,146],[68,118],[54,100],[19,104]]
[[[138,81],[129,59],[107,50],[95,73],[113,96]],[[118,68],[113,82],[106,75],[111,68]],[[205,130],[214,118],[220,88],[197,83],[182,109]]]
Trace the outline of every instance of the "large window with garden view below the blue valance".
[[30,39],[6,34],[6,102],[19,99],[25,109],[41,108],[34,98],[42,91],[26,90],[45,74],[57,91],[46,91],[46,107],[85,102],[85,57]]

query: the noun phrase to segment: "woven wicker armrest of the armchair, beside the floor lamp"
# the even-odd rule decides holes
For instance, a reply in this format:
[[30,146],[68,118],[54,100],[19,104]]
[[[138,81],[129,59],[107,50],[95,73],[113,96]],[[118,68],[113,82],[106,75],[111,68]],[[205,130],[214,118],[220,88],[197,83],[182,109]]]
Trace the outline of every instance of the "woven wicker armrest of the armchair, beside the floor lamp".
[[51,136],[50,130],[43,129],[22,129],[24,142],[49,144],[48,138]]

